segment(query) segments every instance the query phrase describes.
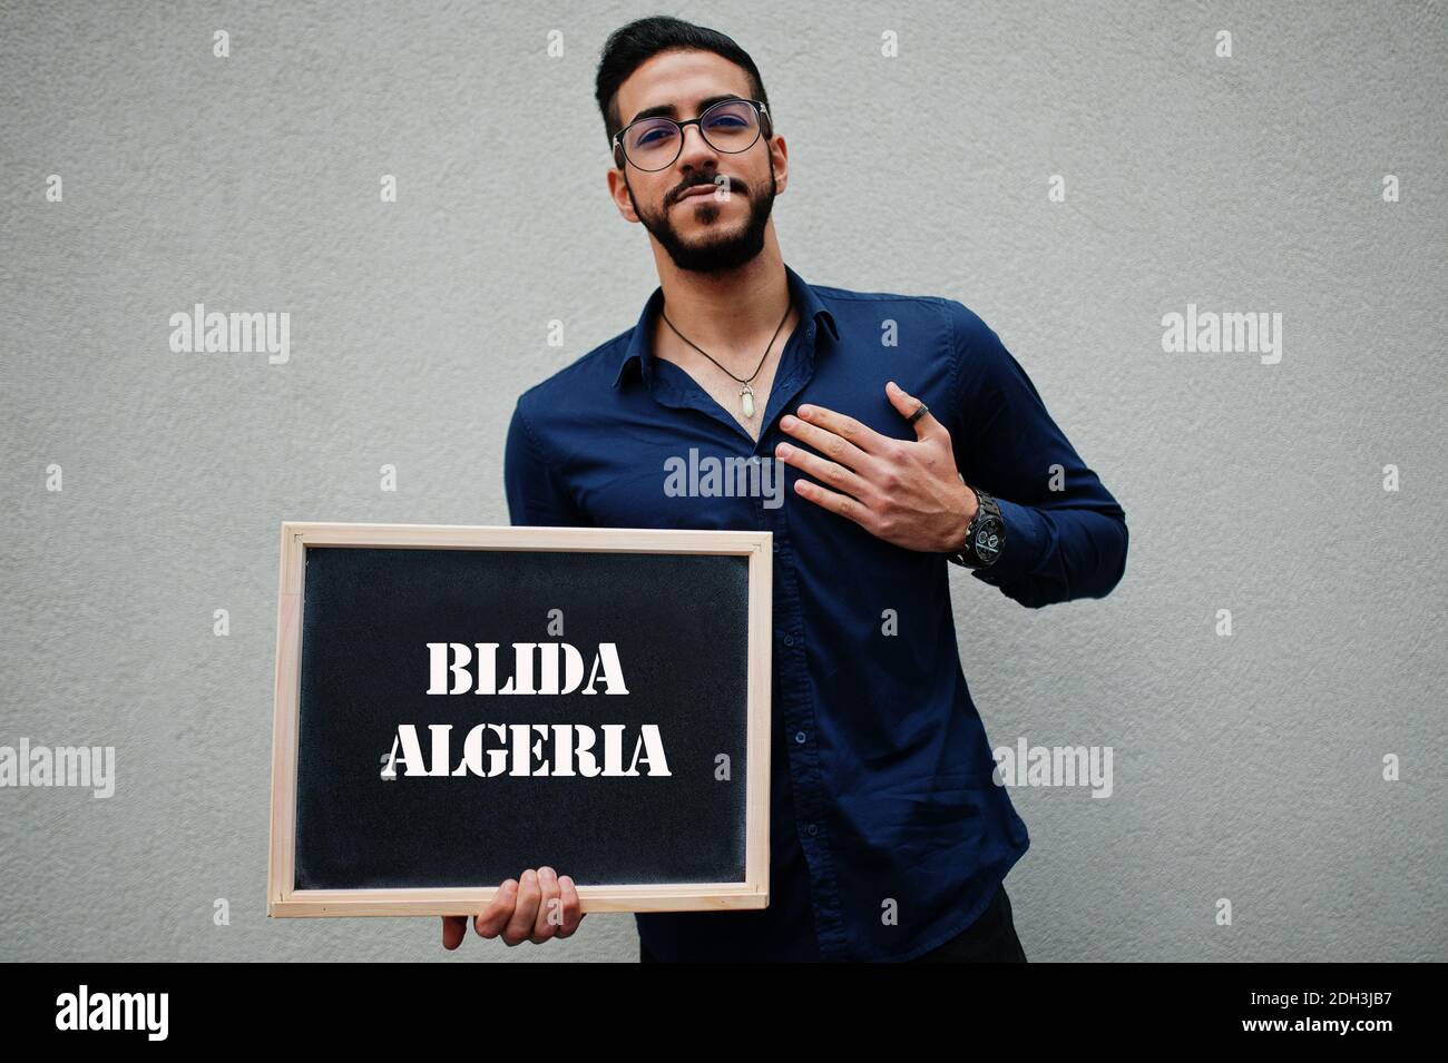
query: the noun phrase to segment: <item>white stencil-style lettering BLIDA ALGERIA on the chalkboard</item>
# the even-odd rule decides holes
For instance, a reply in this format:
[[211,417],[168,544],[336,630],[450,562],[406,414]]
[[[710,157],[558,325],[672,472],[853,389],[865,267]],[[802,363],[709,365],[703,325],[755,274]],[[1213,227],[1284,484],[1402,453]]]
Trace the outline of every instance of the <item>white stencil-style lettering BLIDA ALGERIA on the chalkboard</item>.
[[[429,642],[430,686],[429,694],[571,694],[584,677],[584,659],[578,649],[566,642],[514,642],[514,668],[508,681],[497,686],[497,642],[478,642],[476,681],[468,668],[472,651],[462,642]],[[534,684],[533,658],[539,651],[542,668]],[[563,654],[563,683],[559,683],[559,654]],[[453,659],[449,661],[449,657]],[[588,686],[582,694],[594,694],[594,678],[604,670],[604,684],[610,694],[627,694],[623,670],[618,665],[618,648],[613,642],[601,642],[594,659]],[[452,684],[447,680],[452,678]],[[637,777],[639,764],[647,765],[650,775],[669,775],[669,762],[663,754],[659,725],[643,723],[634,740],[633,761],[624,768],[624,730],[627,725],[604,723],[602,764],[594,752],[597,735],[586,723],[479,723],[463,738],[462,759],[452,764],[450,723],[430,723],[432,762],[423,754],[417,726],[400,723],[392,739],[392,751],[382,771],[384,780],[397,778],[397,764],[401,761],[408,777],[449,775],[537,775],[537,777]],[[489,735],[498,742],[485,746]],[[537,738],[534,738],[537,735]],[[547,752],[544,752],[547,745]]]

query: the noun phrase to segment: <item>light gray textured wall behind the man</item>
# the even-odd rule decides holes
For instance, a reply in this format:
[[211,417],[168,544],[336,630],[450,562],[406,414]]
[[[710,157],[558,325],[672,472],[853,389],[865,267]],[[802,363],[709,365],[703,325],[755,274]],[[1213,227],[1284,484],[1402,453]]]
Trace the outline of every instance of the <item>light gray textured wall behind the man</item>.
[[[636,957],[264,897],[277,525],[507,524],[517,393],[657,283],[592,101],[656,12],[4,4],[0,745],[117,784],[0,790],[0,959]],[[1444,4],[668,13],[763,71],[785,260],[961,299],[1125,506],[1102,602],[951,577],[992,742],[1114,751],[1106,800],[1012,791],[1031,959],[1448,959]],[[194,302],[288,311],[290,362],[172,353]],[[1164,353],[1187,302],[1281,312],[1281,360]]]

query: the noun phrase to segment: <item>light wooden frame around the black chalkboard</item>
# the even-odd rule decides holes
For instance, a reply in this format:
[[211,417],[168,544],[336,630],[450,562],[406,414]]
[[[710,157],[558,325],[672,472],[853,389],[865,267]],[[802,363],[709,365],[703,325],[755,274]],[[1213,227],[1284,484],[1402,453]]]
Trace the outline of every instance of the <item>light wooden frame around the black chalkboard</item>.
[[[769,905],[769,736],[773,534],[660,528],[552,528],[429,524],[281,525],[277,602],[277,687],[272,723],[271,842],[266,914],[472,915],[498,885],[478,888],[297,889],[294,875],[297,723],[301,683],[303,580],[308,547],[424,550],[560,550],[628,554],[734,554],[749,558],[747,768],[743,882],[581,885],[584,911],[698,911]],[[518,868],[521,872],[523,868]]]

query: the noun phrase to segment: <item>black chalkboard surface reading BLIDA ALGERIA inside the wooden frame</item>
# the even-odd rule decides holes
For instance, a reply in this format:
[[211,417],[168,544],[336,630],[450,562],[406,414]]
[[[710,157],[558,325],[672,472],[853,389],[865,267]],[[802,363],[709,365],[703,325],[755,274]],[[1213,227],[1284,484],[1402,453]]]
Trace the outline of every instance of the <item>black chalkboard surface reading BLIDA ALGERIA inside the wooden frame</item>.
[[[752,555],[304,542],[301,563],[288,900],[544,863],[585,908],[586,887],[744,882]],[[582,668],[549,686],[566,646]]]

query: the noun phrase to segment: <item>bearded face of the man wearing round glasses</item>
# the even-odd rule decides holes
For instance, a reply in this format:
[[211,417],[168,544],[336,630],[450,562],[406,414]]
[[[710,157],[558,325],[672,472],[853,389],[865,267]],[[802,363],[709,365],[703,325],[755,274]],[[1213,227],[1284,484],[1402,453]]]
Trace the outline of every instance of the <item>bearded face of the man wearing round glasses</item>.
[[[627,126],[644,110],[668,107],[657,113],[683,121],[721,95],[753,98],[749,75],[714,52],[662,52],[620,85],[618,114]],[[744,152],[720,152],[698,126],[686,126],[673,165],[641,171],[624,162],[623,171],[610,171],[608,187],[618,211],[643,224],[676,268],[717,273],[763,249],[775,195],[788,176],[783,137],[766,139],[762,132]],[[691,191],[696,194],[686,195]]]

